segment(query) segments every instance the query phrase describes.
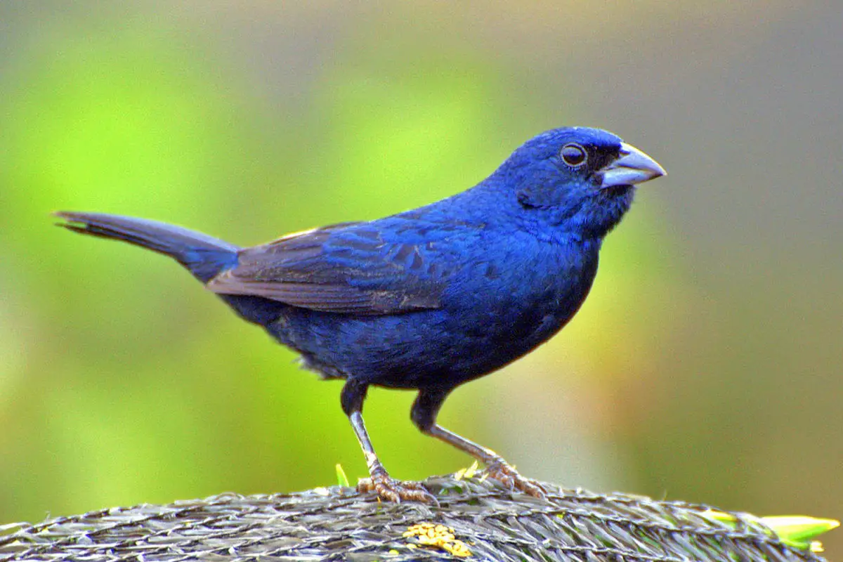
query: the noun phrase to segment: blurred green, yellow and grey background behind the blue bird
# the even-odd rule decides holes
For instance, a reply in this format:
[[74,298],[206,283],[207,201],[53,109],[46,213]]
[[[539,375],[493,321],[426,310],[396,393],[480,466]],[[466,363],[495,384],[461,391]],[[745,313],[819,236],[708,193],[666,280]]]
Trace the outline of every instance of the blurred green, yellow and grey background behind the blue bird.
[[[340,383],[51,211],[257,244],[451,195],[573,124],[670,175],[572,324],[443,425],[539,479],[843,517],[839,6],[300,4],[0,3],[0,522],[365,474]],[[412,399],[368,399],[386,467],[470,463]]]

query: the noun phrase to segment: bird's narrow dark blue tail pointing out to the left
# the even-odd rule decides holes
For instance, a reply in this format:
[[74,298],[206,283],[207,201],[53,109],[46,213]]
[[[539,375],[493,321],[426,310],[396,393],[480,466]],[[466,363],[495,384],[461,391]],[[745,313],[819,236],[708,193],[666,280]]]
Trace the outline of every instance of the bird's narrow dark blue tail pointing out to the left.
[[237,265],[239,248],[207,234],[165,222],[94,212],[56,212],[60,226],[102,238],[115,238],[169,255],[203,283]]

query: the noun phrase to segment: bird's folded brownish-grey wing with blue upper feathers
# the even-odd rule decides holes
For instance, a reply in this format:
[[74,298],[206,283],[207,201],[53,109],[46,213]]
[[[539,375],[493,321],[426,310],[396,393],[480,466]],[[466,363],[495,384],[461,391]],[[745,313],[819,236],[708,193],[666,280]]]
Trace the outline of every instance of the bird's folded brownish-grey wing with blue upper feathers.
[[[438,308],[445,279],[433,243],[389,242],[372,222],[351,222],[240,250],[238,265],[207,283],[213,292],[254,295],[330,313],[393,314]],[[450,261],[450,260],[448,260]]]

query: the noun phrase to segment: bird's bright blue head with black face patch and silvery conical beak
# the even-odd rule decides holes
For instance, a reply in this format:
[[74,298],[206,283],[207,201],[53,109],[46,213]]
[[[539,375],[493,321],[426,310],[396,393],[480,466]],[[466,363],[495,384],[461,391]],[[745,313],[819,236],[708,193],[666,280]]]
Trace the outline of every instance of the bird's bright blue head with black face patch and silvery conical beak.
[[629,209],[635,185],[664,174],[608,131],[565,127],[525,142],[490,180],[507,190],[527,224],[602,238]]

